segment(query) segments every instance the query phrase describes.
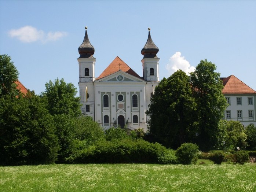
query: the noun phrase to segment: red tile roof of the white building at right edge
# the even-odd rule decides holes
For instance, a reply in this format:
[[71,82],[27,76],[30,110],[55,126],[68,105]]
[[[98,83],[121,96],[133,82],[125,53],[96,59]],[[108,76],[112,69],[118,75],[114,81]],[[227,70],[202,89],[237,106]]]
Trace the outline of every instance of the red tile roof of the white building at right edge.
[[230,75],[226,78],[221,78],[223,81],[224,88],[222,89],[223,94],[247,94],[256,93],[252,88],[240,81],[234,75]]

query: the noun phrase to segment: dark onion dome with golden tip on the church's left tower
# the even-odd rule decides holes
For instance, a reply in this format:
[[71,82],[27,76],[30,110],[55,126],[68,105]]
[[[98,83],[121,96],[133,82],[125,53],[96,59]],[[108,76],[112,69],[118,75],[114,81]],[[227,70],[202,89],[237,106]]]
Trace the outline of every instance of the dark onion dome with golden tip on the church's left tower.
[[84,41],[78,47],[78,52],[80,54],[79,58],[89,58],[94,54],[94,47],[89,41],[88,34],[87,34],[87,27],[85,27],[85,36],[84,36]]

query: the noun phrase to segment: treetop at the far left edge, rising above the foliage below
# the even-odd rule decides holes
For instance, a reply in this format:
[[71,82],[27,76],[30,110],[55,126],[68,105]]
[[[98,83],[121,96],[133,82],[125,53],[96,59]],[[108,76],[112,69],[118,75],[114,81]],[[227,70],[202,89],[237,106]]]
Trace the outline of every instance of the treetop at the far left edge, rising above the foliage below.
[[15,81],[18,80],[18,70],[8,55],[0,55],[0,97],[3,95],[17,96]]

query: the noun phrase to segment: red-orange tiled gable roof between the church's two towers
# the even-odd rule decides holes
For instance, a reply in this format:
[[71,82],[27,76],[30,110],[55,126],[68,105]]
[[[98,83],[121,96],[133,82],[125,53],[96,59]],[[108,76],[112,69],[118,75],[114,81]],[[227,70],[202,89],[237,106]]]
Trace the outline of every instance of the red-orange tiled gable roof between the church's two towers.
[[[119,68],[119,64],[120,68]],[[122,59],[120,59],[118,56],[116,57],[116,59],[114,59],[112,61],[112,63],[109,64],[109,66],[102,72],[102,74],[99,75],[98,78],[96,78],[96,80],[106,77],[108,75],[111,75],[113,73],[116,73],[117,71],[119,71],[119,69],[121,71],[124,71],[125,73],[128,73],[130,75],[134,75],[135,77],[140,78],[140,76],[135,73],[134,70],[132,70],[125,62],[122,61]]]

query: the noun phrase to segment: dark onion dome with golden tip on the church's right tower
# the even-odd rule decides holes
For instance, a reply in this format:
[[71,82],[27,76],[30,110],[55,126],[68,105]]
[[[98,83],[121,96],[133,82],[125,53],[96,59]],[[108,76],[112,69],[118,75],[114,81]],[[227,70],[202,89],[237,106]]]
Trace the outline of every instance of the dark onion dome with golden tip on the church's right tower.
[[149,36],[147,37],[147,42],[145,46],[141,50],[141,54],[144,55],[143,58],[154,58],[156,57],[158,51],[158,47],[154,44],[154,42],[151,39],[149,28]]

